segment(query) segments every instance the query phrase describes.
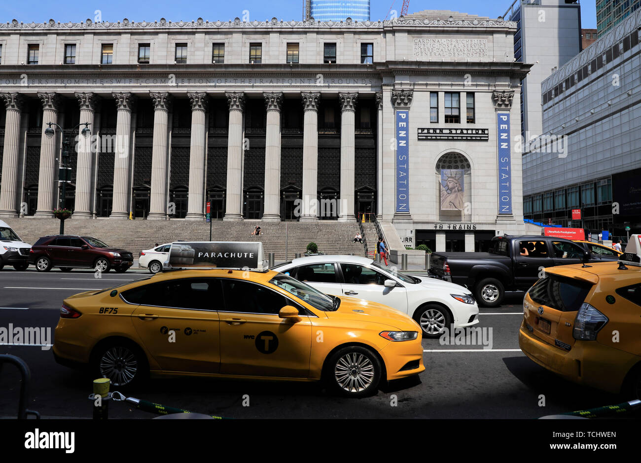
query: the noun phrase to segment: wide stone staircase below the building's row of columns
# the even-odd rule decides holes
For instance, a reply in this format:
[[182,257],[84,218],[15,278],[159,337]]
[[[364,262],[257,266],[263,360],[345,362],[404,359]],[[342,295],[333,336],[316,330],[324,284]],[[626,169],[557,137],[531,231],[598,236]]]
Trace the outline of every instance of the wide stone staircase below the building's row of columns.
[[[5,221],[24,242],[35,243],[38,238],[56,235],[60,231],[58,219],[35,219],[32,217],[6,218]],[[251,235],[256,225],[261,228],[261,235]],[[376,246],[376,228],[374,224],[365,223],[368,242],[372,239]],[[304,254],[307,244],[315,242],[319,251],[325,254],[364,255],[364,248],[352,239],[358,232],[356,223],[338,223],[337,221],[303,222],[263,222],[213,221],[213,241],[262,241],[265,258],[267,253],[276,253],[276,260],[294,258],[294,253]],[[373,233],[372,231],[373,230]],[[134,253],[134,258],[143,249],[153,248],[176,240],[206,241],[209,240],[209,224],[199,221],[169,220],[112,220],[112,219],[68,219],[65,221],[65,233],[70,235],[89,235],[103,240],[114,248],[127,249]],[[285,256],[285,237],[287,235],[287,257]],[[370,235],[373,236],[370,238]],[[370,244],[370,246],[372,246]],[[375,249],[375,248],[370,248]]]

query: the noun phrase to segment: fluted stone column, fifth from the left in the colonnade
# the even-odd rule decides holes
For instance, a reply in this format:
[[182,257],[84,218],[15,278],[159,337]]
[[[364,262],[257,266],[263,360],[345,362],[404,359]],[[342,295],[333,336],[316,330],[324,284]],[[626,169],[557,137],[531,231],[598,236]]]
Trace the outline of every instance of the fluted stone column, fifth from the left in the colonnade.
[[169,92],[149,92],[154,101],[154,137],[151,151],[151,206],[147,220],[167,219],[167,121]]

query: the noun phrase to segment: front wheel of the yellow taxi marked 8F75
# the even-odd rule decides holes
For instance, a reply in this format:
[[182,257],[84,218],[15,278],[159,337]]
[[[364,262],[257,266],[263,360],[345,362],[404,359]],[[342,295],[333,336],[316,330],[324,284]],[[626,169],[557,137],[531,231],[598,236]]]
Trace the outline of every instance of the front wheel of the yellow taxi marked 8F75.
[[346,397],[373,394],[381,380],[381,362],[367,348],[347,346],[329,358],[326,382],[331,390]]

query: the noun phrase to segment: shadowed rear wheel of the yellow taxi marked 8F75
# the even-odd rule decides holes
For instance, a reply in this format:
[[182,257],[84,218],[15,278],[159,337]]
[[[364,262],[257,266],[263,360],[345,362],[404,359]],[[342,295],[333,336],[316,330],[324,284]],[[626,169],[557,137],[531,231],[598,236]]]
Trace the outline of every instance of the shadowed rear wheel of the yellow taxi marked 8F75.
[[147,376],[147,360],[133,342],[114,340],[105,342],[93,356],[94,372],[101,378],[109,378],[113,387],[134,387]]

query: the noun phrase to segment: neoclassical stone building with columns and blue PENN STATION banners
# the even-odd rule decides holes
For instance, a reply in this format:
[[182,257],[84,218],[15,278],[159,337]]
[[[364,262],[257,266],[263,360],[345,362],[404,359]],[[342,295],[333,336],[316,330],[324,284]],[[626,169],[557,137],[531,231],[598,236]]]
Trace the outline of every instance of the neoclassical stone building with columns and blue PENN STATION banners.
[[76,217],[202,220],[209,201],[214,219],[375,214],[412,244],[482,247],[523,228],[515,30],[444,11],[0,24],[0,215],[51,217],[68,137]]

